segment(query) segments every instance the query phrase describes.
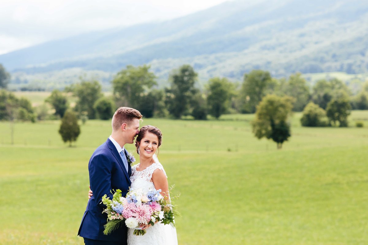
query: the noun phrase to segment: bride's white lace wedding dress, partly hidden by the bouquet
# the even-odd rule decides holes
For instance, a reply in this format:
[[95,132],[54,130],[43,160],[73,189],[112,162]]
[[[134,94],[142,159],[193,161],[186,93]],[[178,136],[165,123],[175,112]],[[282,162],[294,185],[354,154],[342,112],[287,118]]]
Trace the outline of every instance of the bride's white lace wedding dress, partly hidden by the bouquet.
[[[157,158],[156,158],[157,159]],[[155,163],[147,167],[142,171],[137,171],[139,166],[134,165],[132,167],[131,189],[142,188],[144,190],[155,189],[155,185],[152,182],[152,174],[156,169],[161,169],[165,176],[166,172],[163,169],[161,163],[155,159]],[[147,233],[144,235],[133,235],[134,229],[128,228],[128,245],[177,245],[176,229],[169,224],[156,223],[146,229]]]

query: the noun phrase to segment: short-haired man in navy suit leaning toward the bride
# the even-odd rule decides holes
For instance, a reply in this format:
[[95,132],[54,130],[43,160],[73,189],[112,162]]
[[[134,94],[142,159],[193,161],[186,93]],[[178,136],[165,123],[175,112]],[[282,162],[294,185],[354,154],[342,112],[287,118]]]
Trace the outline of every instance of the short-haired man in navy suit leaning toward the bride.
[[131,167],[127,161],[125,144],[132,144],[139,133],[139,121],[142,115],[129,107],[120,107],[112,119],[113,131],[105,143],[93,152],[88,163],[89,184],[93,196],[87,203],[78,235],[84,238],[86,245],[126,245],[127,227],[122,226],[110,235],[104,235],[107,222],[106,208],[101,199],[103,195],[113,199],[110,190],[121,190],[125,197],[130,187]]

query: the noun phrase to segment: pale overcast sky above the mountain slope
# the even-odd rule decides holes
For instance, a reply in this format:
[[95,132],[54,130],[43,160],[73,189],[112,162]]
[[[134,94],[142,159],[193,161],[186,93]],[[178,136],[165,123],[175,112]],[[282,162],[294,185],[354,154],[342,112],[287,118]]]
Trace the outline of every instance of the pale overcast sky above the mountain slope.
[[0,0],[0,54],[93,30],[171,19],[226,0]]

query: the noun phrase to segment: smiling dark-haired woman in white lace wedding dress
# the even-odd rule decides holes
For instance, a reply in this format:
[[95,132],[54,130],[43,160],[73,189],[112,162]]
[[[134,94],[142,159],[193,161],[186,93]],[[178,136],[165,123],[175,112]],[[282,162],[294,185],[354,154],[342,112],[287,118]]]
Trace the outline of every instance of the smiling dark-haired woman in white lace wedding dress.
[[[169,197],[169,185],[163,166],[158,161],[156,151],[162,143],[161,131],[151,125],[141,128],[135,146],[139,154],[137,165],[132,166],[131,189],[161,189],[160,194]],[[89,191],[89,196],[92,191]],[[156,223],[154,226],[142,225],[141,229],[146,230],[145,235],[133,235],[134,229],[128,229],[128,245],[177,245],[176,229],[171,225]]]

